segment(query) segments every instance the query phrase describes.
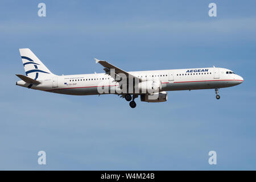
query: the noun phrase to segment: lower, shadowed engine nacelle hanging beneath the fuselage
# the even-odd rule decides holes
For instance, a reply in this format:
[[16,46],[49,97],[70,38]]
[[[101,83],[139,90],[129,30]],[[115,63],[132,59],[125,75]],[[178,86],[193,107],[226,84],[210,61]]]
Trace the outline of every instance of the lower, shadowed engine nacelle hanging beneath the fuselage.
[[167,92],[141,95],[142,102],[165,102],[167,101]]

